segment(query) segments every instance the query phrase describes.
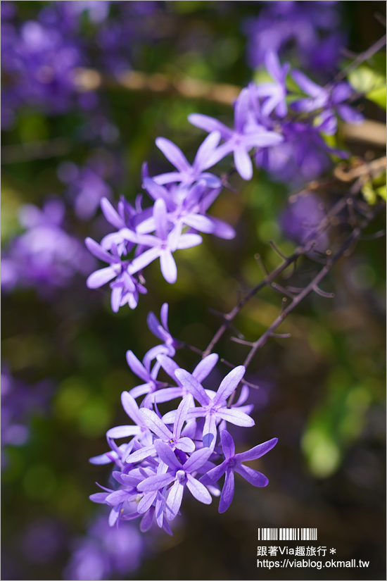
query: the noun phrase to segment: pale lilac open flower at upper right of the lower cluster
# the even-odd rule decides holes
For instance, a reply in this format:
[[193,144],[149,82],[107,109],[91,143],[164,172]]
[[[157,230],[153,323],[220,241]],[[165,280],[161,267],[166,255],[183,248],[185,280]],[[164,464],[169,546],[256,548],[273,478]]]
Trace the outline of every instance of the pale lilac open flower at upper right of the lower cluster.
[[250,427],[255,424],[253,418],[236,408],[227,407],[227,398],[238,387],[245,374],[245,368],[238,366],[231,370],[220,383],[217,392],[211,397],[194,375],[184,369],[175,372],[177,379],[194,396],[200,407],[191,408],[189,418],[205,418],[203,427],[203,446],[214,449],[217,437],[217,423],[226,420],[235,425]]

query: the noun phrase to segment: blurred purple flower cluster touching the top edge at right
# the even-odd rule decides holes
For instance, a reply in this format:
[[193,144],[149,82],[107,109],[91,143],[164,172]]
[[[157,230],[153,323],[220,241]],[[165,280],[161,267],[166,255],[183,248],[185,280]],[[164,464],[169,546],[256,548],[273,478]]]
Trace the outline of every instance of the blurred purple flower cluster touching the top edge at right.
[[336,1],[260,2],[257,18],[244,24],[248,64],[257,68],[268,50],[286,53],[303,68],[325,76],[336,69],[345,46]]

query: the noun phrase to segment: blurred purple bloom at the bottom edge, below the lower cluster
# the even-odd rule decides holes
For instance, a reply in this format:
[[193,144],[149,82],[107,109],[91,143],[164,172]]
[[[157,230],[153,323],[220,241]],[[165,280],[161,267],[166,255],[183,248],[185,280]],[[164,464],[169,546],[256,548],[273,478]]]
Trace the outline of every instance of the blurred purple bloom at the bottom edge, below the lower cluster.
[[76,539],[63,578],[96,581],[130,575],[141,565],[144,549],[137,527],[131,523],[109,527],[106,517],[99,516],[87,536]]

